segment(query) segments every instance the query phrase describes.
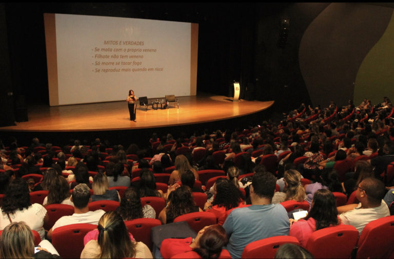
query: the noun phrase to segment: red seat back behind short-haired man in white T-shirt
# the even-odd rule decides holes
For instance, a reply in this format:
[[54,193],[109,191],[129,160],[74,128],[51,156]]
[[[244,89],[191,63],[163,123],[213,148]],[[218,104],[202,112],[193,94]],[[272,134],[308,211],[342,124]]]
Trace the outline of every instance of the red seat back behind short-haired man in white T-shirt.
[[97,225],[93,224],[71,224],[55,228],[52,232],[52,245],[62,258],[80,258],[85,235],[96,228]]

